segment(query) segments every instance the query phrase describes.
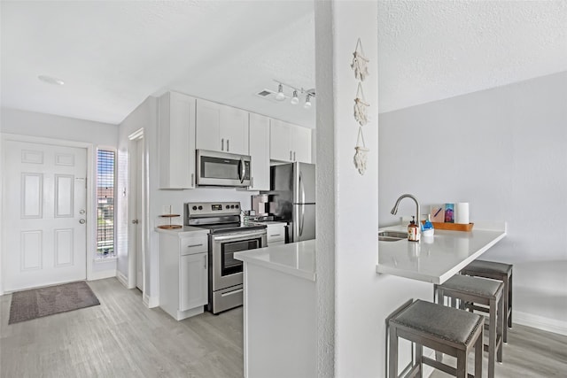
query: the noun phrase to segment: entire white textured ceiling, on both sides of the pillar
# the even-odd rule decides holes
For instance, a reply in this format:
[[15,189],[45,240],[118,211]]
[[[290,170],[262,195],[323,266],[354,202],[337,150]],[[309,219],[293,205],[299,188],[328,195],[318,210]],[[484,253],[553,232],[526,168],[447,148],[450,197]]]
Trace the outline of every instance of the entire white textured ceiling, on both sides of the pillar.
[[[254,96],[276,89],[273,79],[315,87],[311,1],[0,6],[2,106],[118,124],[175,89],[315,127],[315,108]],[[388,1],[378,11],[380,112],[567,70],[567,1]]]

